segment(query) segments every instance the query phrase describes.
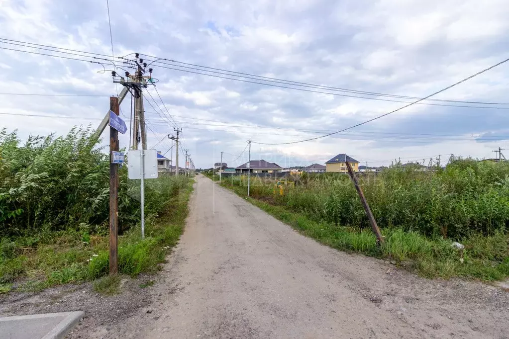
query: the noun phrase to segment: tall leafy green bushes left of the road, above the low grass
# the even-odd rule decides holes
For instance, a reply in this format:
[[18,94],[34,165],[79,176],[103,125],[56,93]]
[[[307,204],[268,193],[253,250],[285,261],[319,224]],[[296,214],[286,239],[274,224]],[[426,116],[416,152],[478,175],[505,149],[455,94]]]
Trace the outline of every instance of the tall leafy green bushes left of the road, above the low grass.
[[[90,129],[65,137],[29,137],[0,131],[0,239],[73,228],[89,234],[107,230],[109,157]],[[153,182],[157,181],[157,182]],[[156,214],[185,185],[147,180],[146,212]],[[120,169],[119,231],[139,222],[139,180]]]

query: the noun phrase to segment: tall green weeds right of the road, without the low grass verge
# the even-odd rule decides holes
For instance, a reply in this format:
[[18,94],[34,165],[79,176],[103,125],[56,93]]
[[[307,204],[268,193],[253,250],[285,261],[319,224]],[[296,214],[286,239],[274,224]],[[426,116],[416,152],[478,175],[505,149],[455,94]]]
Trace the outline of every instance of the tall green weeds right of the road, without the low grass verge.
[[[509,162],[456,160],[437,171],[393,166],[358,179],[382,228],[453,239],[493,235],[509,228]],[[245,190],[247,180],[236,176],[225,178],[223,184]],[[317,222],[369,227],[347,175],[311,175],[305,182],[286,185],[283,196],[273,193],[274,184],[274,179],[254,178],[250,194],[303,212]]]

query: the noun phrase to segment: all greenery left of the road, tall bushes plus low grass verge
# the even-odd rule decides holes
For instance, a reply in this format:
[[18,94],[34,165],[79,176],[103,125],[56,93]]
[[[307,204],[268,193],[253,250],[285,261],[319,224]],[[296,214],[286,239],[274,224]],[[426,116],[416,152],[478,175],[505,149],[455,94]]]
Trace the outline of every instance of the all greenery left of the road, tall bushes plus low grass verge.
[[[107,156],[89,132],[64,138],[0,134],[0,293],[93,281],[108,272]],[[146,181],[146,238],[139,226],[139,180],[120,171],[119,271],[156,271],[177,243],[192,179]],[[104,279],[98,289],[110,284]]]

